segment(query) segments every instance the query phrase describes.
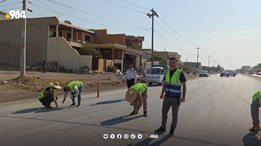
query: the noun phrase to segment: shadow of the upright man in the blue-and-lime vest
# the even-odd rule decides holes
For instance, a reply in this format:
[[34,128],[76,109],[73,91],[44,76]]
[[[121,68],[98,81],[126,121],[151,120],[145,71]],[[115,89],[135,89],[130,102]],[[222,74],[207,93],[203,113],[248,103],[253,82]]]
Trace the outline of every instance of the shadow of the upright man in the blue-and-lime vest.
[[[154,133],[153,135],[161,135],[162,133]],[[139,142],[139,143],[136,143],[136,144],[134,144],[134,145],[161,145],[162,143],[164,143],[165,141],[167,141],[168,139],[170,138],[170,136],[168,136],[168,135],[166,135],[166,136],[164,136],[163,138],[161,138],[160,140],[158,140],[158,141],[156,141],[156,142],[154,142],[154,143],[151,143],[151,141],[153,140],[153,139],[155,139],[155,138],[150,138],[150,137],[148,137],[148,138],[146,138],[145,140],[143,140],[143,141],[141,141],[141,142]],[[156,139],[158,139],[158,138],[156,138]],[[151,143],[151,144],[150,144]],[[130,144],[131,145],[131,144]]]

